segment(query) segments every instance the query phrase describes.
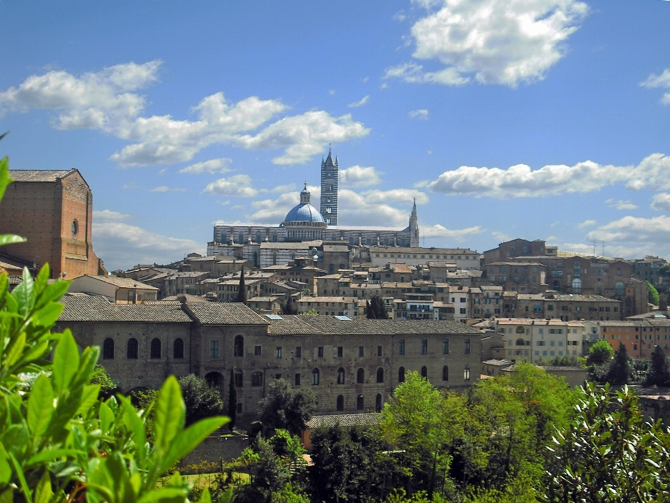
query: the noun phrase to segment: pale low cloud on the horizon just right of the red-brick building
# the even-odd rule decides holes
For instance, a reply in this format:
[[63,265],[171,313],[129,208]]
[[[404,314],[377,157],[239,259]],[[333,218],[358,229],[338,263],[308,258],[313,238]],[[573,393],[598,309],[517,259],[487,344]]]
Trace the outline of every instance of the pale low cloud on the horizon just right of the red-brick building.
[[158,235],[121,221],[94,220],[93,240],[108,270],[137,263],[172,263],[192,252],[202,254],[206,248],[201,242]]

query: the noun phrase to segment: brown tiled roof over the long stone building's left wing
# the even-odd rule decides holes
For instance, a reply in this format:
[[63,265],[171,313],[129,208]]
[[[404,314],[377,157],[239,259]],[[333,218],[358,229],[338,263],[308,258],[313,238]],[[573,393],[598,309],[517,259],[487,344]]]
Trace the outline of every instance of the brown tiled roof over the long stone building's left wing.
[[148,321],[154,323],[191,323],[179,304],[112,304],[103,296],[66,294],[59,321]]

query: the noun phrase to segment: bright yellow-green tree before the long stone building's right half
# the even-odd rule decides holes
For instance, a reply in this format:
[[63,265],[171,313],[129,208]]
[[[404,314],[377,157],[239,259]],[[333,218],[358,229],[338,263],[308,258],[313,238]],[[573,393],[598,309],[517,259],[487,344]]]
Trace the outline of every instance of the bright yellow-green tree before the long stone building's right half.
[[409,372],[384,409],[382,438],[399,450],[397,460],[405,470],[405,490],[426,490],[432,497],[438,474],[447,472],[449,445],[463,436],[466,398],[443,396],[417,372]]

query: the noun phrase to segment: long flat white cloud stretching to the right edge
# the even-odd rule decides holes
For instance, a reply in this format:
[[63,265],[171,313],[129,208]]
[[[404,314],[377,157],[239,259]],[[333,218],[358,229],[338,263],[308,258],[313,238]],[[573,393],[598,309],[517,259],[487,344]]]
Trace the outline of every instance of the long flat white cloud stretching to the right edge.
[[499,199],[586,193],[614,184],[625,184],[631,190],[660,191],[670,190],[669,170],[670,156],[664,154],[651,154],[637,166],[601,165],[593,161],[574,166],[544,166],[538,170],[531,170],[525,164],[506,170],[461,166],[417,187],[429,187],[448,195],[472,194]]

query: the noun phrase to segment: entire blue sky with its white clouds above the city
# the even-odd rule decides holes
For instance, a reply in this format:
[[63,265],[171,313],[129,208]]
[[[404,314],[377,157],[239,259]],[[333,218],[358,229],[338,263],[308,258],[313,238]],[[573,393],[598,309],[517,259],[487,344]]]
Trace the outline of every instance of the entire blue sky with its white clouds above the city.
[[77,168],[108,268],[278,223],[670,257],[670,1],[0,1],[13,169]]

